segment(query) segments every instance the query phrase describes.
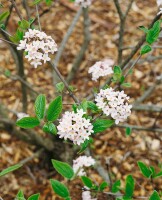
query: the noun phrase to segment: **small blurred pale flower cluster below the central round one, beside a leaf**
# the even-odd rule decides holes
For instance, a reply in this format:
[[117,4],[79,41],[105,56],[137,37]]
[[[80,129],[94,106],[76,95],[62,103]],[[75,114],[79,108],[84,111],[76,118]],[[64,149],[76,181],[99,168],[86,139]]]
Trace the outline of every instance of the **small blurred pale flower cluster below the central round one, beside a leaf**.
[[79,156],[73,160],[73,170],[78,176],[85,176],[86,172],[83,167],[90,167],[95,164],[95,160],[91,156]]

